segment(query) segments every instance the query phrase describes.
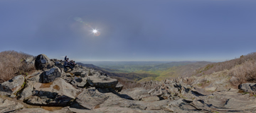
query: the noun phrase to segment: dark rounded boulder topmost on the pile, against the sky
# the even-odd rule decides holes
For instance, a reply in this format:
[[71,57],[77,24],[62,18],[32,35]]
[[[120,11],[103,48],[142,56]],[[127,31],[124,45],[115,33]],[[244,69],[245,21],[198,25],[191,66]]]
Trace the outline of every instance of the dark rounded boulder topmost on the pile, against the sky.
[[39,54],[35,60],[36,69],[49,69],[54,66],[53,62],[45,54]]

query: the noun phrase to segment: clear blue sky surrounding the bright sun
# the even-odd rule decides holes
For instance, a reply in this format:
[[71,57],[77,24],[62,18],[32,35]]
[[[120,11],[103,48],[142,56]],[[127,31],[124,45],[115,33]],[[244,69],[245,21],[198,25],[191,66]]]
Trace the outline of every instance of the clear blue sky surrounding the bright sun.
[[1,0],[0,39],[52,59],[225,61],[256,52],[256,1]]

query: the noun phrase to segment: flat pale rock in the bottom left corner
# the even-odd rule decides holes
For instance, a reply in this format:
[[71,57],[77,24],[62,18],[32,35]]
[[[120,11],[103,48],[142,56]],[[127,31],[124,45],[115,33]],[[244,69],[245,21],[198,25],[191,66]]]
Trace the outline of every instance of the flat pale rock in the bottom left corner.
[[0,112],[14,112],[17,109],[21,109],[23,105],[19,102],[2,99],[0,97]]

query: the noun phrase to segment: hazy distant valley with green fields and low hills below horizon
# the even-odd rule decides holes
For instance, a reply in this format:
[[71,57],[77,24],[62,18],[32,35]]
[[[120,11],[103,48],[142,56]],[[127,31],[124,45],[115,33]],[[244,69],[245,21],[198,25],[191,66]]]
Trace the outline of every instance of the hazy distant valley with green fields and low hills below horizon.
[[178,76],[191,76],[198,68],[211,64],[209,61],[86,61],[78,65],[100,70],[109,76],[143,82]]

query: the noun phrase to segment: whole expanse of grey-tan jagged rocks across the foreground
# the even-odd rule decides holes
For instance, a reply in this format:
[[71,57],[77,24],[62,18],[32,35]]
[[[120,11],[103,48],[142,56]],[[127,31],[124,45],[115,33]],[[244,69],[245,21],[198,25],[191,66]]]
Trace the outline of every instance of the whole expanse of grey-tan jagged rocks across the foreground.
[[[44,54],[26,59],[37,71],[0,85],[0,112],[254,112],[255,83],[219,91],[186,84],[186,79],[149,81],[142,88],[122,90],[117,79]],[[215,90],[208,87],[208,90]],[[29,106],[28,106],[29,105]],[[48,111],[41,107],[60,107]],[[30,108],[33,107],[33,108]]]

